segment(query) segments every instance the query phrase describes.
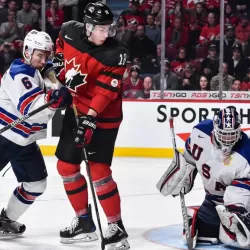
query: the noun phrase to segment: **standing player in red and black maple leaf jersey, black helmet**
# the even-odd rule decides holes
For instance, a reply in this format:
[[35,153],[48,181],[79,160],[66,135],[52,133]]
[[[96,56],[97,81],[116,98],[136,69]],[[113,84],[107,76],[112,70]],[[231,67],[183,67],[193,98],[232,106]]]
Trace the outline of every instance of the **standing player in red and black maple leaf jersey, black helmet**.
[[[126,49],[115,35],[113,14],[101,2],[90,3],[84,22],[62,25],[57,41],[55,70],[59,79],[72,91],[79,116],[65,113],[57,146],[58,172],[75,210],[76,220],[60,232],[61,242],[96,240],[96,227],[88,210],[88,190],[80,173],[86,148],[90,173],[97,197],[108,220],[105,245],[112,249],[129,249],[127,233],[121,220],[120,196],[110,169],[114,145],[122,121],[122,78],[126,66]],[[64,66],[63,66],[64,62]],[[76,142],[77,141],[77,142]]]

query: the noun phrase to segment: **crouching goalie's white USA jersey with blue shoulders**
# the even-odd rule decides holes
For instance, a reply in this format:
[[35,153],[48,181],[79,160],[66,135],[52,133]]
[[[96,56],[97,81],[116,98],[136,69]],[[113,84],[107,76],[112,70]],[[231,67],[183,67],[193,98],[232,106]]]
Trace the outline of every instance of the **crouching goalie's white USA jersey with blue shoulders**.
[[250,211],[250,140],[242,132],[232,154],[224,159],[213,142],[212,120],[196,125],[186,141],[184,157],[195,163],[206,199],[215,204],[240,206]]

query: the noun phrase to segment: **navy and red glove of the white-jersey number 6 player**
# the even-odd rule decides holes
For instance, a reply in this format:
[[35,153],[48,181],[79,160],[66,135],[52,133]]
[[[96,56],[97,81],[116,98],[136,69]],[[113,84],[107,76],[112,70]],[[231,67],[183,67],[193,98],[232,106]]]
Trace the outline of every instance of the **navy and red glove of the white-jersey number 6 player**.
[[50,107],[53,109],[68,107],[72,104],[72,95],[68,88],[62,87],[56,90],[50,90],[46,95],[46,100],[56,100]]

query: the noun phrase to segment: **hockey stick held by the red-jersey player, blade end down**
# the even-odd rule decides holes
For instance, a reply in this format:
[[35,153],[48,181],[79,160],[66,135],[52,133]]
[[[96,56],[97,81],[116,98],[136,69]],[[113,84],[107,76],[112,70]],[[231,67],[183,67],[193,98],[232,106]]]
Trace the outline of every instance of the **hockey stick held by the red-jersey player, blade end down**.
[[[78,126],[78,124],[79,124],[78,112],[77,112],[76,106],[74,104],[73,104],[73,110],[74,110],[75,117],[76,117],[76,124]],[[84,158],[85,158],[87,174],[88,174],[88,177],[89,177],[90,190],[91,190],[93,201],[94,201],[96,219],[97,219],[97,223],[98,223],[98,227],[99,227],[99,231],[100,231],[100,236],[101,236],[101,241],[102,241],[101,249],[104,250],[105,249],[105,243],[104,243],[104,237],[103,237],[103,233],[102,233],[102,225],[101,225],[100,214],[99,214],[99,210],[98,210],[98,206],[97,206],[93,180],[92,180],[92,176],[91,176],[91,173],[90,173],[88,156],[87,156],[86,149],[83,148],[82,150],[83,150],[83,154],[84,154]]]

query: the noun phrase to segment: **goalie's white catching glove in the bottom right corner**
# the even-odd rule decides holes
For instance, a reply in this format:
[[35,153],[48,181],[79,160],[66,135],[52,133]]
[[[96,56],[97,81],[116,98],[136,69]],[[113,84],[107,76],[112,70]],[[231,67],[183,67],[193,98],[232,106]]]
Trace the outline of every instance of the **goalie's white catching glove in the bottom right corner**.
[[[244,209],[244,208],[242,208]],[[216,206],[221,220],[220,241],[224,244],[250,248],[250,213],[229,211],[224,205]]]

